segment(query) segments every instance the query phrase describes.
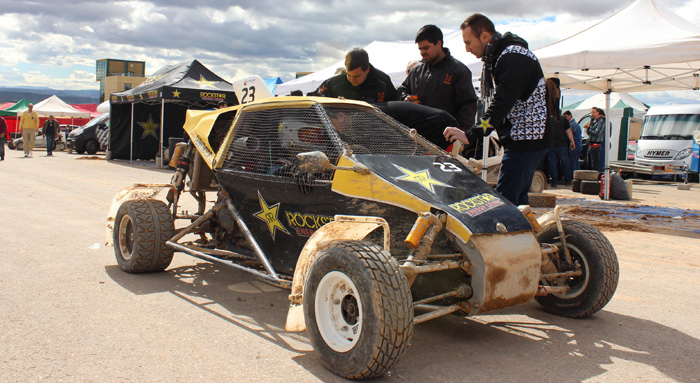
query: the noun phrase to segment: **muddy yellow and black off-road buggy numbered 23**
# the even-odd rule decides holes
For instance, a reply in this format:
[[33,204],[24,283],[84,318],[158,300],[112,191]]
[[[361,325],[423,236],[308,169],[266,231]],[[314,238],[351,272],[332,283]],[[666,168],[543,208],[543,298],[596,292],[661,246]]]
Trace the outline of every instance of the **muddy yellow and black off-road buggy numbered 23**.
[[[340,376],[386,372],[430,319],[533,298],[582,318],[617,287],[594,227],[561,207],[535,218],[369,104],[271,98],[190,111],[185,130],[171,184],[114,199],[119,266],[161,271],[180,251],[289,288],[286,329],[306,329]],[[196,213],[180,209],[187,194]]]

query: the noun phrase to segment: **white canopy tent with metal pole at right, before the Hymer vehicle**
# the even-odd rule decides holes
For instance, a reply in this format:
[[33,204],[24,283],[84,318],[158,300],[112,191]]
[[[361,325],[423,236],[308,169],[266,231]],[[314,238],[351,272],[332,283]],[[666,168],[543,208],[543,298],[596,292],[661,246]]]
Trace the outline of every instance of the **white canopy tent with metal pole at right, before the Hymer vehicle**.
[[[535,50],[535,55],[545,76],[558,77],[562,88],[608,95],[606,115],[612,92],[700,89],[700,27],[652,0],[636,0],[582,32]],[[609,179],[610,145],[605,145],[605,154]]]

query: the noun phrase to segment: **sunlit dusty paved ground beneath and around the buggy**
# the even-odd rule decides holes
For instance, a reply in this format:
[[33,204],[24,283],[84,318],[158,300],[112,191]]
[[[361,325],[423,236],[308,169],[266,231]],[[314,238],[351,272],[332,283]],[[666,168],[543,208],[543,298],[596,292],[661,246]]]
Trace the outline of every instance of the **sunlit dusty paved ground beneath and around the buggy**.
[[[170,172],[40,151],[0,162],[0,382],[342,381],[287,333],[287,292],[177,254],[130,275],[103,246],[112,196]],[[700,239],[605,231],[617,293],[585,320],[529,303],[416,327],[379,381],[700,381]]]

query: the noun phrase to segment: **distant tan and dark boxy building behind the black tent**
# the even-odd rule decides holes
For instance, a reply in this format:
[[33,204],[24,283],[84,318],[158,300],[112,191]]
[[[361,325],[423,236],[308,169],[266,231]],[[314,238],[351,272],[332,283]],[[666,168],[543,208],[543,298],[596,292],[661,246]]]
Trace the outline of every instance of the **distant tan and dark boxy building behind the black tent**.
[[115,92],[123,92],[146,81],[146,62],[101,59],[96,63],[97,81],[100,82],[100,102]]

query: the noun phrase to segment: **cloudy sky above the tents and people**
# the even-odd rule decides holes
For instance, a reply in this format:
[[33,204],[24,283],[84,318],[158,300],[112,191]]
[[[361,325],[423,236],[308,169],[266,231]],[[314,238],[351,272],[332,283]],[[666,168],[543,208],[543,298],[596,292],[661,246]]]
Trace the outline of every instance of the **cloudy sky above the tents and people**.
[[[0,0],[0,84],[98,89],[95,60],[146,62],[146,74],[198,59],[223,78],[288,81],[373,40],[413,40],[424,24],[458,29],[480,12],[539,48],[631,0]],[[700,24],[700,0],[655,0]],[[681,97],[700,102],[699,92]]]

